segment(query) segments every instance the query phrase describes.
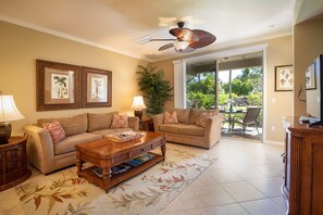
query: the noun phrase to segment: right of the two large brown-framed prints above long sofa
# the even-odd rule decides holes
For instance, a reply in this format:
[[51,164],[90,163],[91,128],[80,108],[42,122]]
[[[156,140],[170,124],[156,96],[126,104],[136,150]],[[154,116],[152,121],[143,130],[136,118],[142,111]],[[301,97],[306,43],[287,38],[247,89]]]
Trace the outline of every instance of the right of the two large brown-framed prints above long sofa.
[[82,67],[82,108],[112,105],[112,72]]

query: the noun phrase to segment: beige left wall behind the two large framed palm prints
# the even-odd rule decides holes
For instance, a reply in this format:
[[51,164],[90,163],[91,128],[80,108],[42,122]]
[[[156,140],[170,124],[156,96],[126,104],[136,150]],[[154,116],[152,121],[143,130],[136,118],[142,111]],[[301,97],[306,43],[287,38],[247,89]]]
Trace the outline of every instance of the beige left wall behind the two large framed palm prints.
[[[133,115],[138,59],[0,22],[0,91],[13,94],[25,119],[12,122],[13,135],[39,117],[120,111]],[[36,112],[36,59],[112,71],[112,108]]]

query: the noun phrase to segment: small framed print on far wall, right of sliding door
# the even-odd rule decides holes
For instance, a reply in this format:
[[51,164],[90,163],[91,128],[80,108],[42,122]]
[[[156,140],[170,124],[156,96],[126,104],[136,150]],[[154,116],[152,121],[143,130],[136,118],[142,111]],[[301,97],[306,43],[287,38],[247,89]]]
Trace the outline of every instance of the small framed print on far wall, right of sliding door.
[[293,91],[294,68],[293,65],[275,66],[275,91]]

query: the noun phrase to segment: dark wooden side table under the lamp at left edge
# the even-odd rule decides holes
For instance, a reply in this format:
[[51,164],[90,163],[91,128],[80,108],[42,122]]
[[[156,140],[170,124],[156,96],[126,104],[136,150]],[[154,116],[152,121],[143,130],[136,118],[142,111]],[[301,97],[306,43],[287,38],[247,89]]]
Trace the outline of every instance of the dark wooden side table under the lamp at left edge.
[[26,142],[27,137],[11,137],[9,143],[0,144],[0,191],[29,178]]

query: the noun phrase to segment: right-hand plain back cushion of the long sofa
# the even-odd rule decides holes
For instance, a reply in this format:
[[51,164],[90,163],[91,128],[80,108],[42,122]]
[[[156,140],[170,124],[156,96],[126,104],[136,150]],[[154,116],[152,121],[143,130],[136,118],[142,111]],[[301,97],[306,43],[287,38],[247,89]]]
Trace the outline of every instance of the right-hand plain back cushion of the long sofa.
[[100,113],[100,114],[89,113],[88,114],[88,131],[111,128],[113,114],[117,114],[117,112]]

